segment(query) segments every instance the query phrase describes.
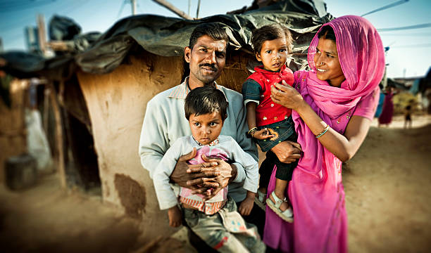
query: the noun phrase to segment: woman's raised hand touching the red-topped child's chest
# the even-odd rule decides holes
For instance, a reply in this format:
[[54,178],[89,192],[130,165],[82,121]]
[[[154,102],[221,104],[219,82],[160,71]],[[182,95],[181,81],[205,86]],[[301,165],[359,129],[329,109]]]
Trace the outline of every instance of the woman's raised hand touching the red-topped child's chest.
[[283,105],[285,108],[289,108],[292,110],[298,110],[301,108],[304,103],[304,98],[302,98],[301,94],[299,94],[296,89],[287,84],[284,80],[282,84],[275,83],[271,86],[271,99],[280,105]]

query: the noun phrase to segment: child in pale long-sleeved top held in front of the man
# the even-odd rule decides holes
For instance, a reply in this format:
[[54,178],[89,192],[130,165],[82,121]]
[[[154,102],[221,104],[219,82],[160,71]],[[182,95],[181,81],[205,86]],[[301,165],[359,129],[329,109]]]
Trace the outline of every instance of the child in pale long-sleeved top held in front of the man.
[[[254,204],[258,184],[258,164],[239,147],[230,136],[220,135],[227,117],[227,100],[222,91],[211,86],[195,88],[185,99],[185,117],[189,121],[192,136],[183,136],[170,146],[154,172],[154,187],[161,209],[168,209],[170,226],[180,226],[184,214],[187,226],[210,247],[220,252],[265,252],[254,225],[246,223],[237,212],[227,188],[206,200],[205,195],[192,190],[170,186],[169,176],[178,158],[196,149],[190,164],[205,162],[202,157],[231,160],[242,164],[246,171],[244,188],[246,200],[239,207],[248,215]],[[180,202],[180,207],[178,207]]]

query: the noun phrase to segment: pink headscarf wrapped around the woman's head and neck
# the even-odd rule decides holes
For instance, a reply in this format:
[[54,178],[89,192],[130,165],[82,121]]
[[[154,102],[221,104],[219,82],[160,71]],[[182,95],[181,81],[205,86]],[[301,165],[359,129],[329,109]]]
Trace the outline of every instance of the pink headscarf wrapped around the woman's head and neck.
[[[317,79],[313,61],[319,41],[316,34],[308,48],[308,65],[312,71],[307,81],[311,82],[308,83],[310,96],[318,107],[333,119],[354,108],[361,97],[376,89],[385,72],[385,54],[377,30],[365,18],[346,15],[322,27],[326,25],[332,27],[335,32],[339,63],[346,80],[339,89]],[[328,106],[328,101],[331,101],[332,105]]]

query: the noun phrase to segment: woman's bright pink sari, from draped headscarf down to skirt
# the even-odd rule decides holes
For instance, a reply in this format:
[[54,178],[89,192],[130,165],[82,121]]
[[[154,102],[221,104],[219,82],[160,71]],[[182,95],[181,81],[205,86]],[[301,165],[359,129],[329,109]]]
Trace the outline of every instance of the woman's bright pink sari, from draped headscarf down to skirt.
[[[385,56],[380,36],[368,20],[343,16],[325,25],[330,25],[335,32],[346,80],[337,88],[317,79],[313,63],[318,44],[316,34],[308,48],[311,71],[295,72],[295,84],[320,118],[344,134],[356,105],[378,89],[385,70]],[[294,223],[283,222],[267,208],[263,241],[282,252],[346,252],[342,162],[320,144],[296,112],[292,112],[292,117],[298,143],[304,150],[287,189]],[[275,187],[275,169],[268,193]]]

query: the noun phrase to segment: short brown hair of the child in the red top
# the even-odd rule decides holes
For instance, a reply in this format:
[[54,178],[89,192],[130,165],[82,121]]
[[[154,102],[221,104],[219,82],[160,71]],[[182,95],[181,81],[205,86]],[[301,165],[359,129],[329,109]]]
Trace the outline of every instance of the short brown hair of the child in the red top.
[[261,53],[262,45],[265,41],[280,39],[286,37],[287,53],[292,53],[292,34],[289,29],[283,25],[274,23],[255,29],[251,35],[251,44],[254,53]]

